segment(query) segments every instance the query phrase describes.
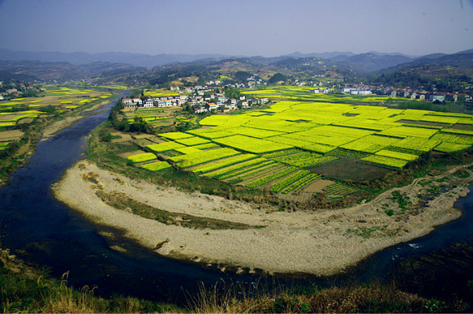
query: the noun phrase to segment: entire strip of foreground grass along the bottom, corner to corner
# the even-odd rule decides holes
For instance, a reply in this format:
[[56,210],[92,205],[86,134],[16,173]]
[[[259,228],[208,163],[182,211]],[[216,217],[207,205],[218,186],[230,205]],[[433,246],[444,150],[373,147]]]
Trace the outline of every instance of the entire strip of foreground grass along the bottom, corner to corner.
[[132,297],[95,296],[95,288],[78,291],[25,266],[0,249],[1,313],[468,313],[465,301],[425,299],[400,291],[395,284],[241,291],[222,282],[200,287],[185,307]]

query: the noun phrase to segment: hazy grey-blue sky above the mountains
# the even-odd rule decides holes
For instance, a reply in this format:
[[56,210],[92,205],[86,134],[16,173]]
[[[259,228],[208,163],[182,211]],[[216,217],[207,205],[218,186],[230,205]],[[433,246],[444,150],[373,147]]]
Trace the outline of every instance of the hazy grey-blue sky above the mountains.
[[0,0],[0,48],[451,54],[473,48],[473,0]]

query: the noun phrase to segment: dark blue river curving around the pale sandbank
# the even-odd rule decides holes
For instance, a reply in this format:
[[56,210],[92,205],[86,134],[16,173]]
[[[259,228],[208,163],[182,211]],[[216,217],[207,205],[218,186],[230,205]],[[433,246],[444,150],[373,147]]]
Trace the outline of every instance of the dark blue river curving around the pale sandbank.
[[[106,108],[109,109],[111,101]],[[473,195],[459,199],[460,219],[442,225],[426,237],[385,249],[367,258],[344,275],[316,277],[258,277],[257,275],[222,274],[212,268],[162,258],[148,249],[119,237],[120,232],[93,225],[71,211],[51,194],[51,185],[64,170],[81,158],[86,147],[85,137],[108,116],[107,111],[83,118],[55,137],[40,142],[37,151],[23,168],[11,174],[10,184],[0,187],[0,241],[23,260],[44,265],[54,277],[69,272],[68,283],[74,287],[97,285],[103,296],[125,294],[155,301],[181,303],[194,294],[198,284],[243,282],[252,287],[258,282],[271,287],[278,285],[313,284],[321,286],[344,284],[357,280],[369,282],[373,277],[395,275],[395,266],[412,256],[443,249],[451,244],[473,243]],[[470,187],[471,190],[472,187]],[[99,232],[111,232],[112,240]],[[110,249],[121,246],[126,253]]]

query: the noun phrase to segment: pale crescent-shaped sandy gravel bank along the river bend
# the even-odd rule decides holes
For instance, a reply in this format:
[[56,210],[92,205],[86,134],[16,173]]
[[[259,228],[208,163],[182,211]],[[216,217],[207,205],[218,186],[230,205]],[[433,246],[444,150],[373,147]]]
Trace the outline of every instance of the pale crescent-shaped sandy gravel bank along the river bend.
[[[449,170],[453,173],[461,166]],[[92,176],[94,180],[85,178]],[[400,191],[414,202],[426,187],[419,178],[407,187],[386,191],[369,203],[337,210],[277,211],[271,206],[230,201],[220,196],[157,187],[130,180],[80,161],[55,184],[54,195],[92,222],[126,230],[126,237],[154,249],[162,256],[217,263],[267,272],[305,272],[332,275],[355,265],[388,246],[424,236],[460,217],[453,203],[468,192],[455,187],[437,196],[426,207],[415,205],[406,213],[387,215],[385,208],[402,212],[391,196]],[[433,182],[432,184],[434,184]],[[445,182],[442,182],[445,184]],[[182,215],[253,225],[247,230],[191,229],[167,225],[107,205],[97,191],[126,195],[140,203]],[[388,207],[387,207],[388,206]],[[258,226],[265,227],[258,227]]]

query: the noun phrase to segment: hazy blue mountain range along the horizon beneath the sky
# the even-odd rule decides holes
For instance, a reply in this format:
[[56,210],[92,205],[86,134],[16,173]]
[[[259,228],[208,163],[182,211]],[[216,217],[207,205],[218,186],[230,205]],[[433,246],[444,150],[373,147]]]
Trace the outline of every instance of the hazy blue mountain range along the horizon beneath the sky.
[[[469,76],[473,69],[473,49],[457,54],[429,54],[421,57],[403,54],[383,54],[370,51],[366,54],[352,52],[325,52],[301,54],[295,52],[277,57],[225,56],[221,54],[131,54],[109,52],[28,52],[0,49],[1,80],[76,80],[83,77],[112,77],[154,73],[164,68],[200,67],[200,70],[227,68],[257,73],[262,68],[282,73],[323,74],[335,70],[342,75],[376,75],[411,69],[419,66],[447,66],[462,68],[456,74]],[[164,67],[164,68],[163,68]],[[145,75],[148,75],[145,74]]]

